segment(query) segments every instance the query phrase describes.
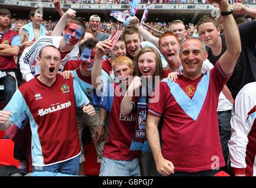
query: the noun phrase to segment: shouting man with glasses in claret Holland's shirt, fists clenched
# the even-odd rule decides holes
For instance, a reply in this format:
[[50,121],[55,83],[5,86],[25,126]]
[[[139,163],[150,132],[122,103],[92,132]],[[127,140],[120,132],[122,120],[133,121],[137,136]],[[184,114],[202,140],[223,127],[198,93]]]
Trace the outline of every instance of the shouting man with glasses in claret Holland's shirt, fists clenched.
[[42,48],[36,63],[41,74],[21,85],[0,111],[0,129],[12,126],[25,113],[32,132],[32,176],[35,172],[78,175],[81,149],[75,106],[89,116],[95,115],[94,107],[74,79],[58,74],[61,53],[55,46]]

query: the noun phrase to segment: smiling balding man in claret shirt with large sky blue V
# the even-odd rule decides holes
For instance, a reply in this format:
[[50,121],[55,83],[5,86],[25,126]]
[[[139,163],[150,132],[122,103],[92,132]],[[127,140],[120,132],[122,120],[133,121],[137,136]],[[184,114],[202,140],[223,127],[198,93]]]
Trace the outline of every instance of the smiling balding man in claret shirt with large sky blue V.
[[[212,3],[212,2],[211,2]],[[221,12],[231,12],[227,0],[218,1]],[[232,15],[224,16],[227,51],[210,72],[202,72],[207,59],[204,43],[188,38],[181,44],[184,75],[159,83],[158,103],[149,105],[147,139],[157,171],[162,176],[214,176],[225,165],[218,132],[217,106],[220,92],[230,78],[241,52],[240,35]],[[158,122],[162,124],[162,146]]]

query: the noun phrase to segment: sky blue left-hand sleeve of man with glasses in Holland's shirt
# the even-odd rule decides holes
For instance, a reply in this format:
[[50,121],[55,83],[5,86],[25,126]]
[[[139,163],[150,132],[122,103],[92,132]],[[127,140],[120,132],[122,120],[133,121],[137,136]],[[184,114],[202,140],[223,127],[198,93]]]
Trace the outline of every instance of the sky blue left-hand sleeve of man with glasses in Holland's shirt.
[[26,105],[25,99],[18,89],[14,93],[14,96],[12,96],[12,99],[8,105],[5,106],[4,110],[12,112],[12,115],[9,118],[10,125],[17,122],[19,117],[24,116],[24,113],[28,113],[28,105]]

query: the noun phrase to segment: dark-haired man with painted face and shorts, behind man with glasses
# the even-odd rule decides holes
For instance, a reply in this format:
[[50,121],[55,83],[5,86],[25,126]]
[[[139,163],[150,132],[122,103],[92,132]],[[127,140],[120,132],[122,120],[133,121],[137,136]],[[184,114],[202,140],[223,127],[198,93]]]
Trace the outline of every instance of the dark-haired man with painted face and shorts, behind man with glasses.
[[[95,57],[95,46],[97,44],[97,41],[94,39],[87,39],[84,43],[82,43],[79,46],[79,56],[80,60],[77,62],[74,62],[74,66],[77,66],[79,63],[78,69],[72,69],[71,66],[69,68],[72,69],[72,71],[65,71],[62,72],[62,76],[64,78],[69,78],[69,72],[74,75],[74,79],[77,80],[78,85],[81,87],[81,89],[84,91],[87,98],[90,100],[90,103],[92,106],[94,106],[94,109],[96,111],[96,115],[93,117],[89,117],[88,115],[85,115],[82,113],[80,109],[76,110],[76,117],[77,117],[77,126],[78,126],[78,133],[79,133],[79,139],[81,144],[81,150],[82,153],[80,155],[80,167],[79,167],[79,175],[84,175],[84,153],[83,153],[83,145],[82,145],[82,133],[85,126],[88,126],[92,137],[94,137],[94,145],[95,149],[97,151],[97,162],[101,163],[102,160],[102,153],[103,153],[103,147],[105,144],[105,140],[107,139],[107,134],[105,133],[105,130],[107,129],[107,126],[105,126],[105,118],[107,116],[107,112],[99,108],[98,105],[94,105],[94,102],[92,101],[92,80],[91,80],[91,72],[92,72],[92,65],[94,64],[94,57]],[[70,62],[68,62],[69,64]],[[102,70],[102,80],[105,80],[106,82],[109,82],[109,76],[107,73]],[[105,129],[106,128],[106,129]]]

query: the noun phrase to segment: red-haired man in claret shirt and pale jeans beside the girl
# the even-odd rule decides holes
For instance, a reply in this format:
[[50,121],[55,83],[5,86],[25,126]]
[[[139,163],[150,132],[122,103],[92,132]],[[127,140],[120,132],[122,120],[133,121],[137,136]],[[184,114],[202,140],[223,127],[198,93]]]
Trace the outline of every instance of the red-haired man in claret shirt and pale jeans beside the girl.
[[[119,83],[101,82],[102,57],[111,48],[111,41],[97,43],[94,65],[92,66],[92,86],[94,103],[109,112],[109,136],[104,145],[99,176],[140,176],[138,151],[131,151],[132,136],[136,123],[136,110],[128,116],[122,116],[120,105],[126,90],[131,83],[134,66],[127,56],[118,56],[112,61],[114,75]],[[101,92],[102,91],[102,92]]]

